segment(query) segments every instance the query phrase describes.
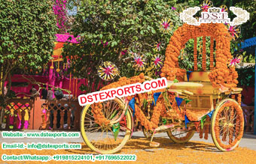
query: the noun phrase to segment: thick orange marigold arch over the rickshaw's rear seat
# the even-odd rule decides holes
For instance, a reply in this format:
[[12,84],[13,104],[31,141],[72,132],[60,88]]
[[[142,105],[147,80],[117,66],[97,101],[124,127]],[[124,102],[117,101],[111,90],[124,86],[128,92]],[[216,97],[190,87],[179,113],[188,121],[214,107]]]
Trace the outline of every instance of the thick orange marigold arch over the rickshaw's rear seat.
[[167,80],[174,80],[176,78],[179,81],[184,81],[186,70],[178,66],[178,55],[180,55],[180,50],[184,48],[187,40],[201,36],[210,36],[216,40],[216,67],[209,73],[212,85],[216,88],[219,88],[220,85],[224,85],[227,88],[236,87],[238,83],[236,80],[238,77],[236,70],[234,67],[227,67],[227,63],[232,58],[230,54],[230,37],[227,28],[222,23],[202,23],[198,26],[185,23],[182,27],[179,27],[173,33],[166,48],[166,60],[161,70],[161,76],[166,77]]

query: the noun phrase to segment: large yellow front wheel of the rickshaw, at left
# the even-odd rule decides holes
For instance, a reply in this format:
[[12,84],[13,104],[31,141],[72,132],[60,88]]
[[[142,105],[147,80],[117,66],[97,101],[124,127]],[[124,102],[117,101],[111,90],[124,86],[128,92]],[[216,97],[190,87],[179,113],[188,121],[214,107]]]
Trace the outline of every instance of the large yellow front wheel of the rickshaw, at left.
[[[120,112],[123,111],[124,103],[120,99],[108,100],[102,102],[102,113],[105,118],[113,121],[119,118]],[[92,106],[87,105],[81,113],[81,135],[88,147],[98,154],[114,154],[120,151],[126,144],[132,133],[132,115],[130,111],[119,122],[120,129],[117,139],[114,139],[113,126],[110,124],[96,124],[91,112]]]

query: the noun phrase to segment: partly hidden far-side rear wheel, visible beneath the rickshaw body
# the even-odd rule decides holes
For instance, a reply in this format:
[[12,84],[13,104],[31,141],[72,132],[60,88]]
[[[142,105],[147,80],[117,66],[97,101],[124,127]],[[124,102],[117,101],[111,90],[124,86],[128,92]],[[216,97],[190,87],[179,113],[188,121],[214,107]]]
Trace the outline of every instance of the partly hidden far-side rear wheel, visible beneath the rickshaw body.
[[169,139],[171,139],[175,143],[183,144],[188,142],[193,136],[196,130],[193,129],[194,127],[178,127],[174,130],[168,130],[167,134]]

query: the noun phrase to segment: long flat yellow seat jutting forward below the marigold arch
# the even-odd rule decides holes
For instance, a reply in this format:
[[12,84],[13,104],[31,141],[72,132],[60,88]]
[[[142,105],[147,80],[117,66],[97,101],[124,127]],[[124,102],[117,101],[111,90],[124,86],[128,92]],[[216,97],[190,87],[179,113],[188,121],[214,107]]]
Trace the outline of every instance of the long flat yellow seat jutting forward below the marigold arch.
[[170,89],[186,90],[193,94],[214,94],[211,82],[176,82],[169,85]]

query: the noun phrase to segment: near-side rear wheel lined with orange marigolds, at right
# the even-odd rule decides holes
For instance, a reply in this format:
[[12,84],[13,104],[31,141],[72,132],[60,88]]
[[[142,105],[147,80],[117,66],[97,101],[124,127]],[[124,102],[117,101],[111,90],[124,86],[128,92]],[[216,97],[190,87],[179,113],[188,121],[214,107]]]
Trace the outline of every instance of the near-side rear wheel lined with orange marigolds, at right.
[[232,151],[242,139],[244,118],[239,104],[222,100],[212,116],[212,140],[221,151]]

